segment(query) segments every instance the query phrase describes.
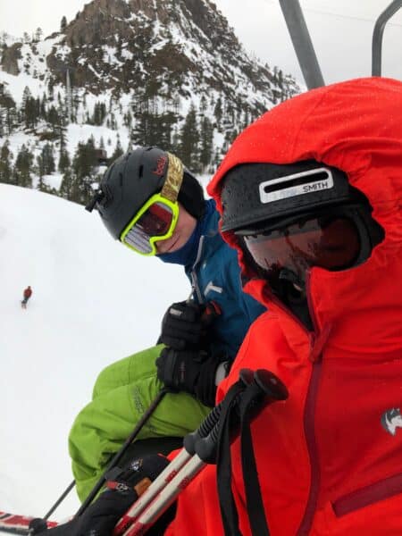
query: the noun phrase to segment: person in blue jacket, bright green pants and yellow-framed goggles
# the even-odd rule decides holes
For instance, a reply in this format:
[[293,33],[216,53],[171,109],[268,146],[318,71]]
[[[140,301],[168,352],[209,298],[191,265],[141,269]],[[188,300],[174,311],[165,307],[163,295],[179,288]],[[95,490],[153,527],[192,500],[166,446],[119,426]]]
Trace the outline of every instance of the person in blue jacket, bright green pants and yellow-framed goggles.
[[98,376],[69,437],[81,500],[163,384],[180,392],[163,398],[138,439],[183,437],[197,428],[248,327],[264,311],[242,291],[237,253],[219,233],[214,201],[205,200],[176,156],[157,147],[122,155],[105,173],[93,207],[113,238],[139,254],[182,264],[192,290],[164,315],[161,344]]

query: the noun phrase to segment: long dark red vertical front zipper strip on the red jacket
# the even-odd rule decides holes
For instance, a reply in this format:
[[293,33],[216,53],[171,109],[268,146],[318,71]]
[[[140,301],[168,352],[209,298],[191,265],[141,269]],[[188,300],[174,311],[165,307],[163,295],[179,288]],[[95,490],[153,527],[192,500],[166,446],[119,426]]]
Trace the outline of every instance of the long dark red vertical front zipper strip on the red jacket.
[[[309,272],[306,272],[306,297],[307,297],[308,310],[309,310],[311,320],[313,322],[313,327],[314,327],[314,333],[312,333],[312,340],[311,340],[312,350],[310,354],[310,359],[313,362],[312,363],[313,370],[311,373],[310,383],[308,385],[305,413],[303,415],[307,451],[308,451],[308,456],[310,458],[310,491],[309,491],[308,498],[307,498],[305,513],[303,515],[303,519],[297,530],[297,536],[306,536],[306,534],[308,534],[308,532],[311,529],[315,510],[317,507],[318,492],[320,488],[320,479],[321,479],[320,466],[318,464],[317,444],[315,441],[314,414],[315,414],[315,403],[317,400],[318,384],[320,381],[321,369],[322,369],[322,362],[321,362],[322,344],[321,344],[321,341],[319,341],[316,336],[317,322],[316,322],[316,318],[314,315],[314,308],[312,306],[311,297],[310,297],[310,273]],[[318,349],[319,349],[318,353],[314,351],[315,346],[318,346]]]

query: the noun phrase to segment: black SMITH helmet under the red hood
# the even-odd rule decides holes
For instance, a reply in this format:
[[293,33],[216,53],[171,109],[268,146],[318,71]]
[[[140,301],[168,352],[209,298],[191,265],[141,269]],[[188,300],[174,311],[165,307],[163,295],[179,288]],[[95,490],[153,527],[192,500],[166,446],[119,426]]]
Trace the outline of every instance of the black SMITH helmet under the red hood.
[[245,163],[223,178],[222,231],[247,235],[267,232],[306,214],[348,212],[360,241],[355,264],[364,262],[384,231],[372,217],[372,206],[353,188],[345,172],[308,160],[290,164]]

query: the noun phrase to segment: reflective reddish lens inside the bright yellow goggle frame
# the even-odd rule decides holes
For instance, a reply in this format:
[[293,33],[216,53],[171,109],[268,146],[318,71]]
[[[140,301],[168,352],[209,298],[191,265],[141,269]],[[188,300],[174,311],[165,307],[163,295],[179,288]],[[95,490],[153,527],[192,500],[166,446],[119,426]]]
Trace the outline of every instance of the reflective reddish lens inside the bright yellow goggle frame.
[[122,240],[138,253],[149,255],[155,250],[151,239],[155,239],[155,237],[168,238],[167,234],[171,236],[174,230],[173,222],[175,219],[171,206],[165,205],[163,202],[153,203],[130,227],[130,230],[126,231]]

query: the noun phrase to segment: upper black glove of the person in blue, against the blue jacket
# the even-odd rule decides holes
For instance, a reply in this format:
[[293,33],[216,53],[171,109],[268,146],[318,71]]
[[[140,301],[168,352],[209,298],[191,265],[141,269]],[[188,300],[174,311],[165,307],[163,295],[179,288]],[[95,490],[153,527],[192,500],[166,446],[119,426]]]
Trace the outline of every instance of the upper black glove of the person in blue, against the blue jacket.
[[163,316],[159,342],[176,350],[199,347],[205,328],[204,311],[205,306],[194,302],[172,304]]

